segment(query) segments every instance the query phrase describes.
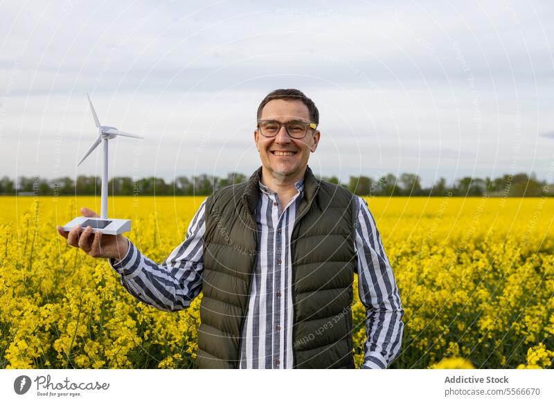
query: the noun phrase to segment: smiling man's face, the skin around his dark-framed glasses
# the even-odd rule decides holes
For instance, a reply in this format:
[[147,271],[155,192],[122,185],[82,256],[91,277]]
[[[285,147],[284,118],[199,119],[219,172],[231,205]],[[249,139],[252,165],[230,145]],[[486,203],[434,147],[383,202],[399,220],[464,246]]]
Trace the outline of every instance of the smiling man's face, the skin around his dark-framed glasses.
[[[310,123],[310,111],[299,100],[271,100],[262,109],[260,120],[277,120],[281,123],[302,120]],[[284,125],[274,137],[263,136],[259,129],[254,131],[262,165],[274,178],[282,179],[301,179],[310,152],[315,152],[317,148],[319,136],[318,130],[308,128],[304,138],[292,138]],[[278,152],[292,152],[292,155],[278,155]]]

